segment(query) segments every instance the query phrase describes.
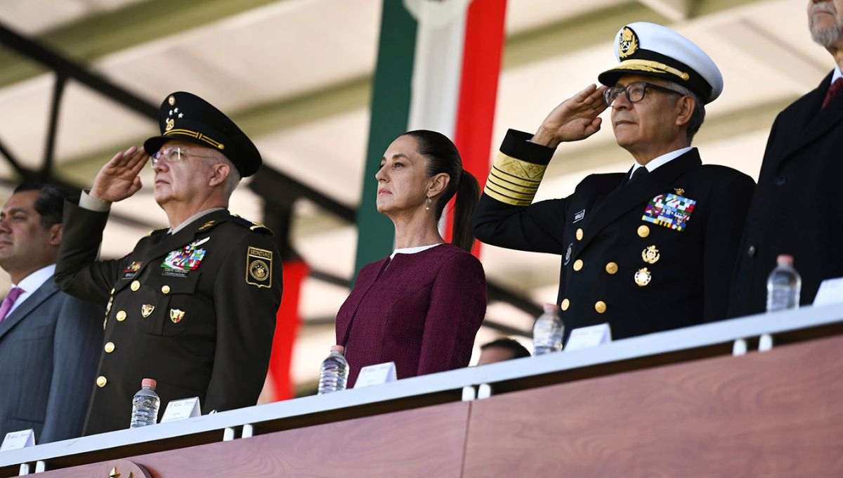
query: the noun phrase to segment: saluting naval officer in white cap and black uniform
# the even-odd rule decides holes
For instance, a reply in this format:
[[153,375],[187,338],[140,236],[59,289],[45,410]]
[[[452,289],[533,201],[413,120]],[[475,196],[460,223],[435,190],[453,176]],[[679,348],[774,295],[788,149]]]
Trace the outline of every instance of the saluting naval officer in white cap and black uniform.
[[[615,40],[620,63],[567,99],[534,135],[503,140],[472,224],[477,239],[562,255],[566,331],[609,322],[615,339],[726,317],[753,181],[703,165],[690,147],[704,103],[722,91],[717,66],[685,37],[635,23]],[[560,142],[599,130],[612,107],[615,139],[635,163],[589,175],[572,196],[533,203]]]

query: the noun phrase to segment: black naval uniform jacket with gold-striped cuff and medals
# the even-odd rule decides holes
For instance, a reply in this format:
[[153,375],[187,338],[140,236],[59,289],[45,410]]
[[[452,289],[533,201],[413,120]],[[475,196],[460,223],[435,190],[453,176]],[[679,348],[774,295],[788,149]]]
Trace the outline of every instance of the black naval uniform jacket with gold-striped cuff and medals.
[[692,149],[642,180],[589,175],[572,196],[530,203],[553,153],[531,136],[507,133],[472,227],[487,244],[562,256],[566,333],[609,322],[619,339],[726,317],[749,176]]

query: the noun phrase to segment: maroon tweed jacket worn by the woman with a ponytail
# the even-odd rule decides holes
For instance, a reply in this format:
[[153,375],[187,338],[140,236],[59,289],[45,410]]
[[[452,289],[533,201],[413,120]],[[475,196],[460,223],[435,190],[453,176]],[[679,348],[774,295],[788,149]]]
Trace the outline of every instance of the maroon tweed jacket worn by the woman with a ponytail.
[[375,363],[395,362],[399,379],[467,367],[485,314],[483,266],[455,245],[363,267],[336,315],[336,343],[346,346],[351,367],[348,388]]

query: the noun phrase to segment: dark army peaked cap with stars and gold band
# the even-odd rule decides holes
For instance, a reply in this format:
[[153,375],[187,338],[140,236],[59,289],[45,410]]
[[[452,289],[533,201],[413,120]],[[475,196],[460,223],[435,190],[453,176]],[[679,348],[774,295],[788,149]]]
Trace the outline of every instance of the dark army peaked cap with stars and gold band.
[[143,142],[143,149],[150,156],[164,142],[186,141],[223,153],[240,177],[254,175],[260,168],[260,153],[249,137],[222,111],[196,94],[184,91],[169,94],[158,112],[158,125],[161,136]]

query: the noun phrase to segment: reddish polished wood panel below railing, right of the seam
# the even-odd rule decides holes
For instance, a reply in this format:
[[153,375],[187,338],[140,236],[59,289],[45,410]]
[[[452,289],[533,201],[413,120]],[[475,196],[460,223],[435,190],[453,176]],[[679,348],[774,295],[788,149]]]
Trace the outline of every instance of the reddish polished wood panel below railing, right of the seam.
[[476,401],[464,476],[843,476],[843,337]]

